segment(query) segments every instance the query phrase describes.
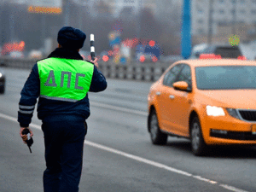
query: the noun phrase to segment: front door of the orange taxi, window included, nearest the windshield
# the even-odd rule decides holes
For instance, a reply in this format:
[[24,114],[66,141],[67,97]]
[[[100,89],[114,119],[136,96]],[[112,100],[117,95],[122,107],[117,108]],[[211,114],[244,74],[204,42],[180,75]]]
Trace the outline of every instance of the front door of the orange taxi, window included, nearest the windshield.
[[[183,64],[181,73],[178,73],[177,81],[185,81],[189,84],[189,90],[172,90],[172,129],[173,132],[184,137],[189,137],[189,109],[192,104],[192,80],[189,65]],[[174,82],[174,83],[175,83]],[[174,120],[175,119],[175,120]]]

